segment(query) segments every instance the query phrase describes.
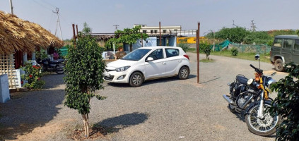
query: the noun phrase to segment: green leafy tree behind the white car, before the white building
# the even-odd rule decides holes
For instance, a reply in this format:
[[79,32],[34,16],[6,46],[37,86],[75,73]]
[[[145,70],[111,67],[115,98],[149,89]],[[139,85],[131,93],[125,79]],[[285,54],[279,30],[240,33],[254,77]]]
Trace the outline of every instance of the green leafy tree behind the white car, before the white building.
[[132,51],[132,46],[137,42],[137,39],[143,38],[145,40],[148,38],[148,35],[146,33],[139,32],[140,30],[140,25],[133,28],[124,28],[124,30],[117,30],[115,31],[117,39],[112,38],[108,40],[108,42],[129,44],[130,51]]

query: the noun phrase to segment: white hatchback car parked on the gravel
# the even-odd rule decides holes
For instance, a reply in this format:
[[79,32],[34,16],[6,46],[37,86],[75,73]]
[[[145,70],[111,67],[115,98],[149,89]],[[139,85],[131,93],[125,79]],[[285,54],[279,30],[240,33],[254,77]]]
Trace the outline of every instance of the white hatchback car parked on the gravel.
[[104,79],[139,87],[144,80],[175,75],[187,79],[189,66],[189,56],[180,47],[141,47],[108,63]]

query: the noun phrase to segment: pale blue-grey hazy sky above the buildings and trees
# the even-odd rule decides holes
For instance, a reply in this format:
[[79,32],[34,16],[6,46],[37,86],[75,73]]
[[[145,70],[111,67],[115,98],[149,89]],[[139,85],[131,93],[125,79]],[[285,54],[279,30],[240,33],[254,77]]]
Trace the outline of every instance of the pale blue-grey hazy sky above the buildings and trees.
[[[251,20],[258,31],[299,29],[298,0],[12,0],[13,13],[37,23],[53,34],[59,8],[63,39],[71,39],[71,24],[92,32],[115,32],[134,24],[148,26],[181,25],[182,30],[197,30],[200,35],[235,25],[250,30]],[[11,13],[9,0],[0,0],[0,11]],[[57,37],[60,38],[59,30]]]

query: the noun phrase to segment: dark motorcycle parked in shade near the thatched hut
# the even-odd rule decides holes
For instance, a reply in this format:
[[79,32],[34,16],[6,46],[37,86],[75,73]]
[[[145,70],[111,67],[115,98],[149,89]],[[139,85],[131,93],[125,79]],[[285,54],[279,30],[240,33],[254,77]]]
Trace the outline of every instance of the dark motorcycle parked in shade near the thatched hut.
[[57,74],[64,74],[64,59],[51,61],[50,59],[37,59],[37,63],[42,67],[42,71],[56,72]]

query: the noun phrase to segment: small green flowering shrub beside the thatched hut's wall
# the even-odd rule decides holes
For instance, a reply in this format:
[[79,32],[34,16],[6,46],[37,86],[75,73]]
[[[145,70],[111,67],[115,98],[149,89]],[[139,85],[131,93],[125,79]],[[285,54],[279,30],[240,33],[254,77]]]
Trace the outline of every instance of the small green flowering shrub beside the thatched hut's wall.
[[22,82],[27,82],[24,87],[29,89],[41,89],[43,85],[45,85],[45,81],[40,80],[42,78],[42,68],[40,66],[33,66],[31,61],[25,63],[25,67],[23,67],[23,71],[25,71],[25,75],[22,75]]

